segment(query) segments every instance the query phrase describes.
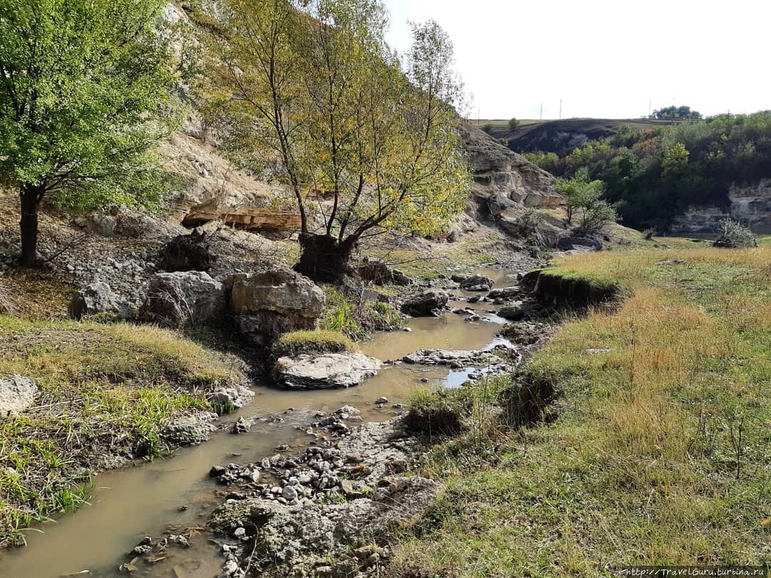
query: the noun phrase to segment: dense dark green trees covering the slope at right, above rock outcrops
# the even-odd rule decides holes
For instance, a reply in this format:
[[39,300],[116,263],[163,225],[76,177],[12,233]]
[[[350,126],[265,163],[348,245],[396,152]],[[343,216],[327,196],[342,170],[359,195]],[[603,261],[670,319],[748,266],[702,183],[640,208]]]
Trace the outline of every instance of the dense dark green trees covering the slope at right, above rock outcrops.
[[567,156],[525,156],[557,176],[588,172],[604,183],[628,227],[666,230],[691,205],[728,203],[732,183],[771,177],[771,111],[633,130],[593,140]]

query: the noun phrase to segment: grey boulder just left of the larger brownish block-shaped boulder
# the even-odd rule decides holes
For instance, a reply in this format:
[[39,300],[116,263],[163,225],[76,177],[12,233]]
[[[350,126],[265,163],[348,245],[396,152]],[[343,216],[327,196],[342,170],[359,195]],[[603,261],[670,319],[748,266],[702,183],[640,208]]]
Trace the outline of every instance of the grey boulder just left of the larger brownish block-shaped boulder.
[[171,326],[217,324],[225,313],[225,292],[203,271],[157,273],[150,279],[139,317]]

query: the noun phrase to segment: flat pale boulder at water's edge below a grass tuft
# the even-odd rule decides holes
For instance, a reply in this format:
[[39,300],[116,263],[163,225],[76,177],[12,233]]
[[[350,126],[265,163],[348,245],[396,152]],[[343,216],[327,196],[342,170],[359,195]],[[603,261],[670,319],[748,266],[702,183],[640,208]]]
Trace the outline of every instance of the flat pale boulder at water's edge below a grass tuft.
[[359,385],[377,374],[380,360],[359,351],[281,357],[273,368],[274,379],[284,388],[328,389]]

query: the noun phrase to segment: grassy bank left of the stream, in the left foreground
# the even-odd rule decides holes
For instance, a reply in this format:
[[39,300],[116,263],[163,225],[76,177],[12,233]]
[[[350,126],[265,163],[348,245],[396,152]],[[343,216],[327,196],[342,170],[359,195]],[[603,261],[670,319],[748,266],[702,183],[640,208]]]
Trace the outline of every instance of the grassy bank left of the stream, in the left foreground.
[[39,395],[0,418],[0,546],[78,506],[95,472],[170,449],[164,425],[217,409],[205,393],[241,380],[235,361],[172,331],[0,315],[0,376],[14,374]]

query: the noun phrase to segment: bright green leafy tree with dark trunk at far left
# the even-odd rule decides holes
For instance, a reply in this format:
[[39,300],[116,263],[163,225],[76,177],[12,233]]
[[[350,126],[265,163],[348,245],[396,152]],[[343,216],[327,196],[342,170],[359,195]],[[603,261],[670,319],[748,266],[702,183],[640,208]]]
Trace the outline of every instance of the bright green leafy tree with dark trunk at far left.
[[173,77],[159,0],[0,0],[0,181],[19,190],[23,267],[44,197],[89,205],[157,193],[153,113]]

